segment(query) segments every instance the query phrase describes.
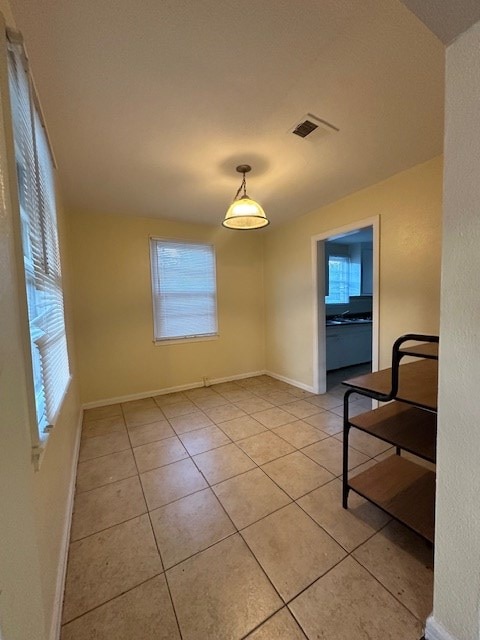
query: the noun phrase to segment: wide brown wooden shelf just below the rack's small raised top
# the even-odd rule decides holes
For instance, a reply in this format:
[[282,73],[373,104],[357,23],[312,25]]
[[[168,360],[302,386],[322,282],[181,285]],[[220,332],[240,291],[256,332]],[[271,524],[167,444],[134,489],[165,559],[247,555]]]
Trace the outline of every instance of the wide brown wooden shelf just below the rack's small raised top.
[[[395,397],[407,404],[416,405],[429,411],[437,410],[438,363],[423,359],[402,364],[398,368],[399,385]],[[375,373],[351,378],[343,382],[347,387],[362,393],[390,396],[392,391],[392,370],[383,369]]]

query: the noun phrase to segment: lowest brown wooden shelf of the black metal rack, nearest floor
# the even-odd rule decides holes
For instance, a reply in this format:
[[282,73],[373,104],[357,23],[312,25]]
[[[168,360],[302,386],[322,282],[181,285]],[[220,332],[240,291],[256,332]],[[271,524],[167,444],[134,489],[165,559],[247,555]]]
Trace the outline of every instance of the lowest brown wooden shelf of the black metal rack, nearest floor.
[[435,473],[390,456],[348,482],[350,489],[433,543]]

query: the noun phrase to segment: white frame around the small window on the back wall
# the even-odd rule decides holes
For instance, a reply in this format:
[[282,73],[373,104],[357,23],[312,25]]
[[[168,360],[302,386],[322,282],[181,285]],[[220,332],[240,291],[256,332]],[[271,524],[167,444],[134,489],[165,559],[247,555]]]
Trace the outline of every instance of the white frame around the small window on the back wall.
[[[157,270],[157,266],[155,264],[157,260],[156,253],[156,243],[163,244],[180,244],[180,245],[190,245],[190,246],[202,246],[209,247],[211,249],[212,254],[212,264],[213,264],[213,281],[215,283],[215,291],[214,291],[214,314],[215,314],[215,331],[212,333],[204,333],[204,334],[192,334],[186,336],[172,336],[172,337],[157,337],[159,331],[158,328],[158,319],[156,314],[156,292],[155,292],[155,271]],[[185,344],[188,342],[208,342],[210,340],[218,340],[219,338],[219,322],[218,322],[218,280],[217,280],[217,256],[215,251],[215,245],[211,242],[200,242],[198,240],[185,240],[180,238],[165,238],[163,236],[150,236],[149,237],[149,249],[150,249],[150,285],[152,292],[152,320],[153,320],[153,344],[155,346],[165,346],[165,345],[173,345],[173,344]]]

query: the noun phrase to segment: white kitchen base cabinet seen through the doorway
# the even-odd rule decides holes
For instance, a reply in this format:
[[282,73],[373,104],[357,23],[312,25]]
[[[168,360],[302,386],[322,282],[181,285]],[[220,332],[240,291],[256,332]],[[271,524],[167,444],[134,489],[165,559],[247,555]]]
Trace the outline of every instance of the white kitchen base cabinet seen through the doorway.
[[326,328],[327,371],[372,359],[372,325],[339,324]]

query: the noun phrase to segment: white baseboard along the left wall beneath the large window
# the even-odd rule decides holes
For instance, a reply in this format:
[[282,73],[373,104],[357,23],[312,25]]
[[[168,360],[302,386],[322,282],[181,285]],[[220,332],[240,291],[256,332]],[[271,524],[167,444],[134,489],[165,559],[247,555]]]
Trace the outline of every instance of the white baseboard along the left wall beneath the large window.
[[50,625],[50,640],[60,640],[62,626],[63,592],[65,590],[65,578],[67,575],[68,548],[70,543],[70,529],[72,526],[73,501],[75,498],[75,482],[77,478],[78,455],[80,452],[80,435],[82,433],[83,409],[80,409],[75,444],[73,447],[72,468],[68,485],[67,508],[65,510],[65,523],[60,545],[60,558],[57,570],[57,585],[55,588],[55,602],[53,605],[52,622]]

